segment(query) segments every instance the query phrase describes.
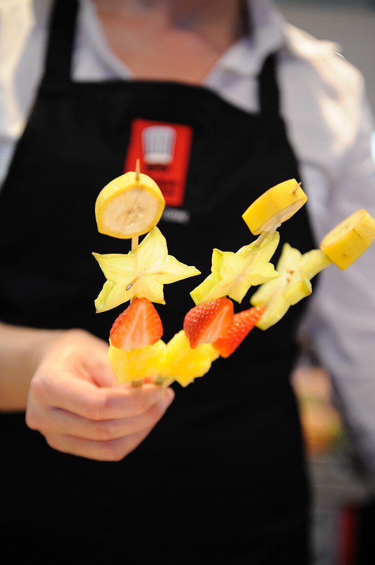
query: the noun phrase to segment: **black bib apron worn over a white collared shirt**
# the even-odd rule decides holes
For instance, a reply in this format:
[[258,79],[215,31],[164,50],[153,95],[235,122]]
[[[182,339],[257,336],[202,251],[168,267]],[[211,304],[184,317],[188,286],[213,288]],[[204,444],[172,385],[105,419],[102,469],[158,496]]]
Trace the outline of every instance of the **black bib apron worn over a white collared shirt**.
[[[0,197],[0,319],[81,327],[107,340],[124,306],[95,314],[104,277],[91,251],[127,253],[129,242],[96,231],[94,205],[123,172],[134,119],[193,129],[182,206],[190,221],[159,227],[169,253],[204,276],[213,247],[236,251],[254,239],[245,208],[301,176],[279,114],[275,55],[259,74],[256,114],[201,86],[74,82],[77,5],[61,0],[55,8],[45,75]],[[281,244],[314,247],[305,208],[280,233]],[[165,340],[182,328],[189,291],[201,280],[165,286]],[[59,453],[26,427],[24,414],[3,415],[2,533],[15,557],[306,563],[308,489],[288,381],[304,306],[266,332],[255,328],[195,384],[175,386],[167,414],[120,463]]]

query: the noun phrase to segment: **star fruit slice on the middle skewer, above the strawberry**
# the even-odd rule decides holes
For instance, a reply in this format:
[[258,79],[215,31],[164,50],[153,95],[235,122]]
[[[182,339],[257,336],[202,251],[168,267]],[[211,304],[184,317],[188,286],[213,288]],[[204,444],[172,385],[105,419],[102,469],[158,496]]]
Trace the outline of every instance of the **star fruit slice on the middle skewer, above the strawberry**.
[[229,296],[241,302],[250,286],[275,279],[278,273],[269,260],[279,244],[279,232],[267,236],[258,247],[256,242],[237,251],[214,249],[211,275],[192,290],[196,304]]

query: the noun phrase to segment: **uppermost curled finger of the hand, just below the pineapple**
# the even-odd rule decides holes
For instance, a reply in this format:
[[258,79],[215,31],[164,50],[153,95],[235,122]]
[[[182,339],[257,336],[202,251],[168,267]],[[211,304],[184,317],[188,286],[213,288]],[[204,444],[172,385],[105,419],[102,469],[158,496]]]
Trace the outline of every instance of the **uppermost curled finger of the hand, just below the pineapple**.
[[38,375],[30,385],[30,396],[39,403],[95,421],[140,416],[171,394],[171,389],[152,384],[134,389],[98,388],[61,371]]

